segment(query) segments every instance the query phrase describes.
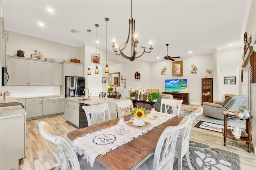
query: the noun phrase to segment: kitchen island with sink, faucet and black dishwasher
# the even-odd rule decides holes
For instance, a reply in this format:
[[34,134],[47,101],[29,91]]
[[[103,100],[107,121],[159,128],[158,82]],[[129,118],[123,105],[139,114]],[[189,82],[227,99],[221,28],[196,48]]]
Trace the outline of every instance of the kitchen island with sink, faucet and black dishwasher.
[[64,117],[74,125],[76,128],[88,127],[86,115],[82,106],[98,105],[100,103],[108,103],[110,118],[116,119],[116,105],[115,101],[122,101],[122,99],[113,99],[108,97],[91,96],[89,99],[85,96],[80,97],[66,97],[64,100]]

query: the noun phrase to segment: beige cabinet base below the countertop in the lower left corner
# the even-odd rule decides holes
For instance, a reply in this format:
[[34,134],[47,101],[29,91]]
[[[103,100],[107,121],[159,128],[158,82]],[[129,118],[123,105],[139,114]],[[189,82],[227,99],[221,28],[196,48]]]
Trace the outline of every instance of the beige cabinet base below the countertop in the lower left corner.
[[26,156],[26,116],[0,119],[0,169],[19,166]]

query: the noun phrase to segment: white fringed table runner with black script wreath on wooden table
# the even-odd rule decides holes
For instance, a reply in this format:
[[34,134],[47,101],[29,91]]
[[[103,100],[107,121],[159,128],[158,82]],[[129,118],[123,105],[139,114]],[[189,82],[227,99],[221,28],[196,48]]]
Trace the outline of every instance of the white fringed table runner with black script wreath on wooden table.
[[[150,123],[150,125],[145,127],[133,127],[125,124],[124,128],[129,130],[126,134],[117,134],[115,129],[119,128],[119,126],[114,125],[76,138],[72,141],[71,145],[74,147],[75,152],[78,152],[80,155],[84,154],[83,158],[86,159],[87,162],[90,162],[90,165],[93,167],[94,161],[98,155],[105,155],[110,152],[110,150],[115,150],[119,146],[130,142],[134,138],[148,132],[148,130],[152,130],[154,127],[175,116],[173,114],[160,112],[156,112],[155,115],[158,117],[156,120],[149,119],[148,116],[150,116],[150,114],[144,117],[144,121]],[[126,123],[129,122],[130,121],[126,121]]]

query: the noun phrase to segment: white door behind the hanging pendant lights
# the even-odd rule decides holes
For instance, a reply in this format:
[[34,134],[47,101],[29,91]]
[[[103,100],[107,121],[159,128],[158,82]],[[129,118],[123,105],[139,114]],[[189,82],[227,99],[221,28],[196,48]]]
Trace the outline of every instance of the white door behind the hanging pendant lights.
[[95,68],[95,65],[90,65],[91,75],[88,75],[88,87],[92,96],[99,96],[102,92],[102,66],[98,66],[98,74],[95,74]]

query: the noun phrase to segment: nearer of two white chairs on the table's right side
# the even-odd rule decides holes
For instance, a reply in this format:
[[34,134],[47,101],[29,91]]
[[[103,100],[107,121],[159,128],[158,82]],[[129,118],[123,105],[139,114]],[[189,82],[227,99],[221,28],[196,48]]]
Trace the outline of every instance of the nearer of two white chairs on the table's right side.
[[154,155],[140,164],[136,170],[172,170],[179,132],[188,126],[190,120],[191,117],[186,116],[179,125],[165,128],[158,139]]

